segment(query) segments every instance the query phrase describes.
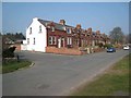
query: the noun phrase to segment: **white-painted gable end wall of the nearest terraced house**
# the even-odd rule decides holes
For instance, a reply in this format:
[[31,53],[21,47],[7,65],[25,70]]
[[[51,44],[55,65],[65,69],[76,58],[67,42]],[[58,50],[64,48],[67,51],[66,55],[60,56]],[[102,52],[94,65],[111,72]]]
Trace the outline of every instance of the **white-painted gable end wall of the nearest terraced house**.
[[[47,47],[47,30],[46,27],[37,20],[37,17],[33,19],[32,24],[26,29],[26,41],[27,38],[29,38],[29,45],[27,44],[27,50],[45,52]],[[39,33],[39,25],[41,25],[41,33]],[[29,27],[32,27],[32,34],[29,34]]]

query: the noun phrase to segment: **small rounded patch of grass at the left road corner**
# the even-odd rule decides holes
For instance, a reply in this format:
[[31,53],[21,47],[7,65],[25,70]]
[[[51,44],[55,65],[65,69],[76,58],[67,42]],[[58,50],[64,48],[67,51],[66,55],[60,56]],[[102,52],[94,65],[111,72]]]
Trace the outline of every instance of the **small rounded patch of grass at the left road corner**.
[[31,64],[32,62],[26,60],[8,62],[2,64],[2,73],[14,72],[19,69],[29,66]]

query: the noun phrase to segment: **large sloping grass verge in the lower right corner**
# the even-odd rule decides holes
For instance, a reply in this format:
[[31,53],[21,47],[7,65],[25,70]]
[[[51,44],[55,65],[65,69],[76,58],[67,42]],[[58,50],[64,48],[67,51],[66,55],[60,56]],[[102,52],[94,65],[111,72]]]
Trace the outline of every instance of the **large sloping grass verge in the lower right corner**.
[[123,95],[131,93],[131,88],[129,90],[129,87],[131,87],[131,85],[129,86],[131,58],[129,60],[129,57],[131,54],[124,57],[93,82],[78,88],[71,96],[115,96],[120,93],[123,93]]

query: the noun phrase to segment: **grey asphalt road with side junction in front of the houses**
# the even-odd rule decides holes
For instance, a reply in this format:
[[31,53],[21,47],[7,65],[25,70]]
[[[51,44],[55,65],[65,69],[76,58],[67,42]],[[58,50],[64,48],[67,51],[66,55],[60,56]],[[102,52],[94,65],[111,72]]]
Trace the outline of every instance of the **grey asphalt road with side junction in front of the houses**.
[[126,50],[85,56],[20,52],[21,58],[32,60],[35,65],[3,74],[3,96],[68,95],[128,53]]

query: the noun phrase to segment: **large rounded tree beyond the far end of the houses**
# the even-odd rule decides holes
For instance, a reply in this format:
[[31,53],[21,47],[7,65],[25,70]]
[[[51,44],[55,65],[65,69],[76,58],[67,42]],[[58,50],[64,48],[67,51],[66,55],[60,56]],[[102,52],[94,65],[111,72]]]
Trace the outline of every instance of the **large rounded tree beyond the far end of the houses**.
[[123,42],[123,33],[120,27],[115,27],[110,32],[110,38],[112,44],[122,44]]

